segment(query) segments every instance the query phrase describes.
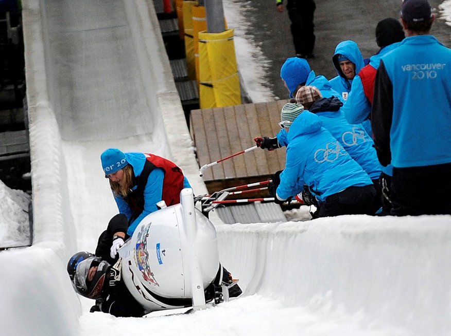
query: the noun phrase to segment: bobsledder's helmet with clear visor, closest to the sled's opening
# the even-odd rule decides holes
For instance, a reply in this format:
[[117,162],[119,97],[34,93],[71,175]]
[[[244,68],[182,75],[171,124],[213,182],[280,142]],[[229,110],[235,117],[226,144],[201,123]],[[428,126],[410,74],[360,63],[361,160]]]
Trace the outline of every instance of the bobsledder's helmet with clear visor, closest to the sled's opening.
[[[99,298],[110,266],[105,260],[96,256],[88,257],[79,262],[72,282],[75,290],[84,297]],[[91,281],[88,281],[88,273],[91,267],[97,267],[97,269]]]

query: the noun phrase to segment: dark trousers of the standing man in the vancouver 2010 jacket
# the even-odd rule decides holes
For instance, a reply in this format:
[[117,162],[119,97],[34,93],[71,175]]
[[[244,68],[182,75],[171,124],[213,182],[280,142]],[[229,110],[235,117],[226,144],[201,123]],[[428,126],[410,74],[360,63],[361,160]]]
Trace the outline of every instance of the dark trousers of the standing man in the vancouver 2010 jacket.
[[451,214],[451,163],[393,168],[392,215]]

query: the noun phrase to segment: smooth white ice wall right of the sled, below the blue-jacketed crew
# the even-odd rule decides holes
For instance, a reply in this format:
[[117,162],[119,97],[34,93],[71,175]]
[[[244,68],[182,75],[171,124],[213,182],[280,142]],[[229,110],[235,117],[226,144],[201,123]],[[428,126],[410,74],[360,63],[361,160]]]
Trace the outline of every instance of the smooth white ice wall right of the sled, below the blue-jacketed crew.
[[451,330],[451,216],[340,216],[217,231],[222,263],[246,295],[369,328]]

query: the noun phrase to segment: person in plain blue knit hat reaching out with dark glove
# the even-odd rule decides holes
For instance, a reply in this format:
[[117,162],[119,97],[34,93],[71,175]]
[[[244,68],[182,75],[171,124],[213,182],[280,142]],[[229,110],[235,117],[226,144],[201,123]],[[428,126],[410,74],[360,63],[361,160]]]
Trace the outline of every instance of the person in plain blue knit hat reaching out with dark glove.
[[[298,57],[288,58],[281,67],[280,77],[288,89],[290,98],[295,97],[296,92],[302,86],[312,85],[321,91],[323,97],[329,98],[334,96],[344,102],[324,76],[316,76],[315,71],[310,69],[310,65],[305,59]],[[285,129],[281,129],[275,137],[256,137],[254,141],[262,150],[268,151],[288,145]]]

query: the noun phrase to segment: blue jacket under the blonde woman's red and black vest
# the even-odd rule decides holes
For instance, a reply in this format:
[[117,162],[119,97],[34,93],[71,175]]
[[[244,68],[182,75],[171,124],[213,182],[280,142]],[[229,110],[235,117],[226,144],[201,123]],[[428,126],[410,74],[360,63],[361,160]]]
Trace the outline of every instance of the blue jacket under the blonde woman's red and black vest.
[[[135,177],[140,176],[144,169],[144,163],[146,162],[144,153],[125,153],[125,158],[133,167]],[[161,201],[163,193],[163,178],[164,171],[161,168],[156,167],[150,172],[144,189],[144,211],[136,219],[130,222],[130,226],[127,230],[129,236],[133,234],[134,230],[144,217],[158,210],[157,203]],[[191,188],[186,177],[184,177],[184,188]],[[136,185],[132,189],[136,189]],[[114,200],[116,201],[119,213],[126,215],[127,219],[130,221],[133,212],[129,204],[120,195],[115,196]]]

